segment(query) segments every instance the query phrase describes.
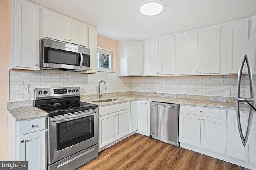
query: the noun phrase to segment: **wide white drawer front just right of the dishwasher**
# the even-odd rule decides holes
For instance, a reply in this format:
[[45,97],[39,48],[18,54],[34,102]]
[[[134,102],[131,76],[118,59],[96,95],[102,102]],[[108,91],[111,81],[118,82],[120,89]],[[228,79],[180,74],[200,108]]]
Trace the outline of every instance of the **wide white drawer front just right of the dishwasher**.
[[188,113],[193,115],[226,119],[227,111],[220,110],[220,109],[205,108],[205,107],[180,106],[180,113]]

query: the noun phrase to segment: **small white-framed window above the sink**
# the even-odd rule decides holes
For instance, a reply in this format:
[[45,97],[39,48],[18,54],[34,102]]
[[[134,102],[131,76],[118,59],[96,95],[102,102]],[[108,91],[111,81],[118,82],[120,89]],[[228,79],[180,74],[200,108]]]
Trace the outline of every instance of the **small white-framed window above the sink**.
[[112,71],[112,52],[106,51],[102,49],[98,49],[97,51],[97,69],[98,71]]

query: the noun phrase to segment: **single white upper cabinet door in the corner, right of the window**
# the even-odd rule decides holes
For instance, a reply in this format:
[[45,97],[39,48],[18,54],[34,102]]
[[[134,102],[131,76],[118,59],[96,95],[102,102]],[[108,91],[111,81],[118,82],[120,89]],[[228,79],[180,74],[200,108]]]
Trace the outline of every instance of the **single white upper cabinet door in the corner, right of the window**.
[[143,72],[143,52],[142,42],[128,41],[127,60],[128,76],[142,76]]

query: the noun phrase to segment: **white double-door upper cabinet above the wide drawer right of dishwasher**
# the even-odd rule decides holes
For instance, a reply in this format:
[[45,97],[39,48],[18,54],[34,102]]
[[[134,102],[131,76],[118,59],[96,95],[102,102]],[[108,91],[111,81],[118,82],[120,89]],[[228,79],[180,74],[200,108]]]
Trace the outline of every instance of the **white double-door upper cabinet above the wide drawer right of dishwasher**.
[[220,27],[177,35],[180,74],[220,73]]

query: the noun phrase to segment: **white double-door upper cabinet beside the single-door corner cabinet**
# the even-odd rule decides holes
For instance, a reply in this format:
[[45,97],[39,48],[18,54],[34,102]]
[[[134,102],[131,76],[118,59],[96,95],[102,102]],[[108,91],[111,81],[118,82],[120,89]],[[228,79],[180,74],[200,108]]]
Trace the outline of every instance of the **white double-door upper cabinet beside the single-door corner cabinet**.
[[145,41],[145,74],[172,75],[174,74],[174,37]]

